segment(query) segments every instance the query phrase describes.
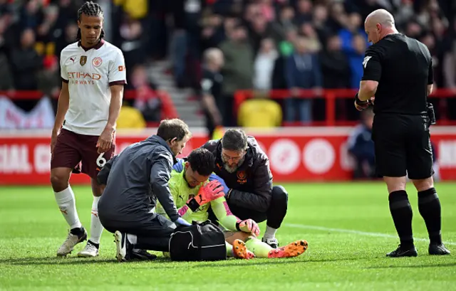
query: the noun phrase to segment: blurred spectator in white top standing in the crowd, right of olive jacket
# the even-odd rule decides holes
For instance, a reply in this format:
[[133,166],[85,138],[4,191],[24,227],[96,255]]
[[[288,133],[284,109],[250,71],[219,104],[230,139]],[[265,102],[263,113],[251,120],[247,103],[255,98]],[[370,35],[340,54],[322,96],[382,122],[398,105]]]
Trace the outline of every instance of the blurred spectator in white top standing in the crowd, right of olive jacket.
[[264,38],[255,58],[254,89],[271,90],[272,73],[278,53],[271,38]]

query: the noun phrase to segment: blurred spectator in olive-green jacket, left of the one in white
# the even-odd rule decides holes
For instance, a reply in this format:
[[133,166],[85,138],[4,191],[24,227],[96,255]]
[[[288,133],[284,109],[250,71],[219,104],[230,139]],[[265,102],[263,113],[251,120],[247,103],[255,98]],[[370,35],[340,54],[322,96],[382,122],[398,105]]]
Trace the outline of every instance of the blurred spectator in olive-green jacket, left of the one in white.
[[244,26],[235,26],[229,32],[229,38],[220,45],[225,58],[222,70],[224,78],[224,106],[222,111],[224,126],[234,125],[233,103],[234,92],[252,88],[254,75],[254,54],[247,41]]

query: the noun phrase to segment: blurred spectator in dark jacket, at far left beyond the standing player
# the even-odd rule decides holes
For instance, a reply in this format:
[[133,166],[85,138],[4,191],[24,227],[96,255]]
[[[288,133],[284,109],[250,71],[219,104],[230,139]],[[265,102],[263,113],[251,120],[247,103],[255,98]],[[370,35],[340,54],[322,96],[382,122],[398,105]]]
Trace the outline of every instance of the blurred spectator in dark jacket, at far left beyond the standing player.
[[34,44],[35,33],[31,28],[26,28],[21,33],[21,46],[11,52],[11,70],[16,90],[38,89],[36,73],[43,63],[33,48]]

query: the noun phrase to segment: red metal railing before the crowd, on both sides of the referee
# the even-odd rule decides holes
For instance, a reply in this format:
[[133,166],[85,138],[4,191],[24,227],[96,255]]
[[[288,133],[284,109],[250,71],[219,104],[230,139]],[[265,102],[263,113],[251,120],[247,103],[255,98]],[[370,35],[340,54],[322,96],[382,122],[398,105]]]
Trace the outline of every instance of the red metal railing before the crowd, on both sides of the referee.
[[[327,89],[318,92],[316,90],[299,90],[298,98],[302,99],[324,99],[326,101],[326,121],[323,122],[284,122],[285,126],[300,126],[300,125],[313,125],[313,126],[347,126],[354,125],[356,122],[349,122],[346,120],[336,120],[336,100],[337,99],[354,99],[354,96],[358,92],[353,89]],[[234,93],[234,112],[237,113],[239,106],[245,100],[254,97],[256,92],[254,90],[239,90]],[[284,99],[291,96],[290,90],[271,90],[269,91],[269,97],[271,99]],[[456,98],[455,90],[448,89],[437,89],[432,92],[430,98],[440,99],[438,102],[437,110],[442,112],[439,125],[456,125],[456,120],[447,120],[447,106],[445,99]]]

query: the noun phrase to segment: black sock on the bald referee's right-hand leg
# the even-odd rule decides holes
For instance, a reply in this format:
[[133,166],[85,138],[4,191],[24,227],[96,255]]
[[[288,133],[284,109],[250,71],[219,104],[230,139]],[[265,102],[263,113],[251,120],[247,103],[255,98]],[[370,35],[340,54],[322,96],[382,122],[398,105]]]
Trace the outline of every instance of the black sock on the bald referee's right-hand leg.
[[442,216],[440,215],[440,200],[437,191],[432,187],[418,192],[418,210],[425,219],[430,243],[442,243]]

